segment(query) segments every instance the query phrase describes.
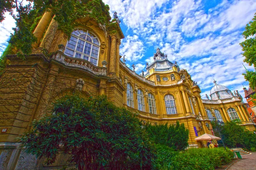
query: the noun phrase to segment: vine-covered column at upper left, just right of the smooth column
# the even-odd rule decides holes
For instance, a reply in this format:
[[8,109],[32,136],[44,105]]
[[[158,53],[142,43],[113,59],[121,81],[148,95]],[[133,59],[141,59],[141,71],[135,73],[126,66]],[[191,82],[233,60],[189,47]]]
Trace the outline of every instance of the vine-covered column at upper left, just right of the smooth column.
[[58,23],[56,20],[52,19],[40,44],[40,48],[44,48],[45,50],[49,51],[57,29]]

